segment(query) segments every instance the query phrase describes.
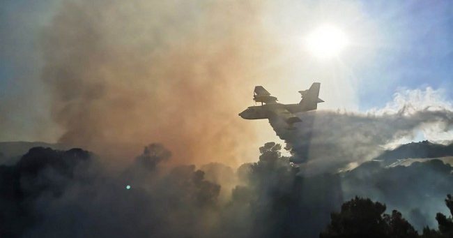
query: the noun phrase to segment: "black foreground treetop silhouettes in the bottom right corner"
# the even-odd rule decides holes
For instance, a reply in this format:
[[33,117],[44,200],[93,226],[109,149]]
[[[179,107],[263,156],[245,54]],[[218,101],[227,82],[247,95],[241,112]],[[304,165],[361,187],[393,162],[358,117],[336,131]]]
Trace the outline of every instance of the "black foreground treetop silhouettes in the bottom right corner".
[[[447,195],[445,204],[453,216],[453,197]],[[358,198],[345,202],[339,213],[332,213],[332,221],[321,232],[321,238],[340,237],[383,237],[383,238],[452,238],[453,218],[438,213],[436,220],[439,230],[429,227],[423,229],[418,235],[412,225],[403,218],[401,213],[393,210],[392,214],[384,214],[385,204],[372,202],[368,198]]]

